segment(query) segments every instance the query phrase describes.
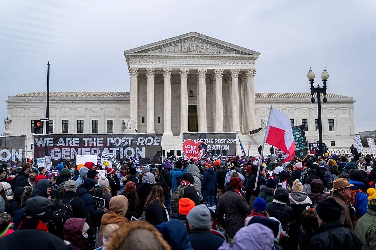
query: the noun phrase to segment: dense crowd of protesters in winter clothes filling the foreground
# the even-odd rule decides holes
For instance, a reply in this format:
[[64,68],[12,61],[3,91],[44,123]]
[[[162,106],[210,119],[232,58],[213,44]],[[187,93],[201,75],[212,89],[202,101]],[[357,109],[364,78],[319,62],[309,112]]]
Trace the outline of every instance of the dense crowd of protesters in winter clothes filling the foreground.
[[2,249],[376,248],[376,160],[356,148],[284,163],[270,154],[46,172],[14,162],[0,181]]

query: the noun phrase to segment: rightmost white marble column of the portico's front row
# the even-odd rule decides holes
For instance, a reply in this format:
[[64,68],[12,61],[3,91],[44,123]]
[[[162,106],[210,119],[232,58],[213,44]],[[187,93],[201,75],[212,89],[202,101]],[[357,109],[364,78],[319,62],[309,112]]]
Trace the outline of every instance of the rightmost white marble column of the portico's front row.
[[247,70],[247,114],[248,114],[248,130],[247,132],[256,129],[256,99],[255,99],[255,74],[256,69]]

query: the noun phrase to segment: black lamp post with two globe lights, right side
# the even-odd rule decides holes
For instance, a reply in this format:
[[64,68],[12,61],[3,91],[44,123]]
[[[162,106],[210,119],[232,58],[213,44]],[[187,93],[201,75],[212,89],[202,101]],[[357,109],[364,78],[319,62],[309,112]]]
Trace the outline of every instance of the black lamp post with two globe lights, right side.
[[317,93],[317,115],[318,115],[318,148],[321,154],[324,154],[323,151],[323,128],[321,122],[321,93],[324,95],[323,102],[326,103],[326,81],[329,78],[329,73],[326,72],[326,67],[324,67],[323,73],[321,73],[321,79],[323,80],[323,87],[320,87],[320,84],[317,84],[317,87],[314,87],[313,81],[315,80],[315,73],[312,71],[311,67],[309,67],[309,71],[307,74],[308,80],[311,82],[311,102],[315,102],[314,94]]

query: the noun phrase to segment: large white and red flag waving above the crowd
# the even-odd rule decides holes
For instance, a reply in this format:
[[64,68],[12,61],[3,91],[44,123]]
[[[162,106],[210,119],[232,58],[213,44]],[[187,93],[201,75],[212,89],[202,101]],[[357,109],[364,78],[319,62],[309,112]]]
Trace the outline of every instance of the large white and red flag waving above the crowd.
[[295,141],[291,129],[291,120],[287,115],[277,109],[271,109],[265,138],[267,144],[273,145],[288,154],[284,162],[294,158]]

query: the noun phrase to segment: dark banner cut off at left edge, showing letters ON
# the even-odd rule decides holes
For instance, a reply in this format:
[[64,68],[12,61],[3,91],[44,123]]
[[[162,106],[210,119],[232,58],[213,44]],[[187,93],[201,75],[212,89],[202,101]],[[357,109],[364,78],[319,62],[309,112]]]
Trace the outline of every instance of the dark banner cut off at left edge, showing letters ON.
[[[26,136],[0,136],[0,162],[22,162],[26,157]],[[44,156],[43,156],[44,157]]]

